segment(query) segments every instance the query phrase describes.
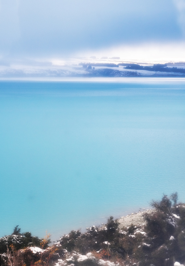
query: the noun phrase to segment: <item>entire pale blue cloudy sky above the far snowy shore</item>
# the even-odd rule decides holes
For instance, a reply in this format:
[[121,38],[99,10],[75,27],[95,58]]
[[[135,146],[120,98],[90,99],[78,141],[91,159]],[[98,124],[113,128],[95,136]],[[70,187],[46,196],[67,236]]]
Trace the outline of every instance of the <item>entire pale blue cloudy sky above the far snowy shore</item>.
[[0,64],[91,55],[180,60],[184,47],[185,0],[0,0]]

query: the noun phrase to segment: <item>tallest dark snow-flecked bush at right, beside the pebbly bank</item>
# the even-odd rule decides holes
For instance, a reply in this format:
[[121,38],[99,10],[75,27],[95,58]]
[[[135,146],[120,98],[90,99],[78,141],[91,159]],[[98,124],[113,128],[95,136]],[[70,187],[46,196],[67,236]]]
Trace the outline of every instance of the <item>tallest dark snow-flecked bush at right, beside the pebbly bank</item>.
[[139,245],[141,266],[171,266],[185,262],[185,204],[177,203],[177,193],[152,202],[155,212],[145,214],[146,237]]

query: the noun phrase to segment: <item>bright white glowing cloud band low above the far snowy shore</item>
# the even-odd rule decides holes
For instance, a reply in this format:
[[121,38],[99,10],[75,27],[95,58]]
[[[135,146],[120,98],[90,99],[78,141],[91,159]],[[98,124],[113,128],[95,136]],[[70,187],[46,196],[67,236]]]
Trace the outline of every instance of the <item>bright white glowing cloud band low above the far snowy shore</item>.
[[185,62],[185,42],[147,42],[132,45],[119,45],[107,49],[81,51],[78,56],[97,58],[120,57],[124,61],[135,62]]

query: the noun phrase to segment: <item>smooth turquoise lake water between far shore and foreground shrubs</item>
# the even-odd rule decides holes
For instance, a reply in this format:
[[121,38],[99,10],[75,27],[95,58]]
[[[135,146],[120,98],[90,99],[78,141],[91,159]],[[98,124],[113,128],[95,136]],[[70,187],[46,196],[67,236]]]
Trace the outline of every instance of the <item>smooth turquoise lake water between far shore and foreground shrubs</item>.
[[0,82],[0,237],[185,201],[185,80]]

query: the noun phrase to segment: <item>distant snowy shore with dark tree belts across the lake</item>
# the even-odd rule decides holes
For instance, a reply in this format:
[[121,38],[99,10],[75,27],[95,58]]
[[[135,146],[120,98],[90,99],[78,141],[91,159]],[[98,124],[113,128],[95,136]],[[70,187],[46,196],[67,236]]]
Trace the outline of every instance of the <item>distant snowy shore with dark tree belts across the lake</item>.
[[146,64],[81,62],[63,65],[0,66],[0,80],[6,79],[102,79],[102,78],[185,78],[185,63]]

